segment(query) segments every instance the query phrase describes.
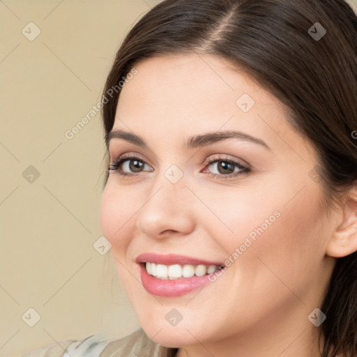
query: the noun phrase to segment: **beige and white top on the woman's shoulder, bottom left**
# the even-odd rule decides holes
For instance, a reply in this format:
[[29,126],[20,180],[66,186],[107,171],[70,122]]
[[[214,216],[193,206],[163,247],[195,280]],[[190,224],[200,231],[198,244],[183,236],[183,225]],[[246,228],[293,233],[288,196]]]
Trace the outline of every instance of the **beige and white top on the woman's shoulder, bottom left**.
[[153,342],[142,328],[119,340],[105,341],[102,335],[90,335],[83,340],[63,340],[36,349],[21,357],[167,357],[174,356],[167,349]]

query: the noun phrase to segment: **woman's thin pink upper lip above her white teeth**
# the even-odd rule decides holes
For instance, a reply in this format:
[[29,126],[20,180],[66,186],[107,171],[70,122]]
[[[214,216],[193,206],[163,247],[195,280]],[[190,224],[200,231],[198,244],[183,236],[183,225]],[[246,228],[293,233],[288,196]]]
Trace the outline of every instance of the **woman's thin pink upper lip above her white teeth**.
[[192,257],[185,257],[184,255],[176,255],[176,254],[158,254],[153,252],[143,253],[138,255],[135,259],[137,263],[146,263],[149,261],[150,263],[155,264],[164,264],[164,265],[174,265],[174,264],[192,264],[192,265],[217,265],[221,266],[222,263],[218,261],[208,261],[204,259],[197,259]]

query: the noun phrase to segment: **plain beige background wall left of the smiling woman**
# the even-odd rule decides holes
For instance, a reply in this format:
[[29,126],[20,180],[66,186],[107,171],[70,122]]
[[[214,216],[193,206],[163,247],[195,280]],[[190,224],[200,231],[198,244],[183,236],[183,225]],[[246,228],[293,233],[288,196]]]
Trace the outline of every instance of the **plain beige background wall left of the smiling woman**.
[[[65,132],[98,103],[123,36],[157,2],[0,0],[0,356],[139,327],[112,258],[93,248],[100,115],[73,139]],[[32,41],[29,22],[40,29]]]

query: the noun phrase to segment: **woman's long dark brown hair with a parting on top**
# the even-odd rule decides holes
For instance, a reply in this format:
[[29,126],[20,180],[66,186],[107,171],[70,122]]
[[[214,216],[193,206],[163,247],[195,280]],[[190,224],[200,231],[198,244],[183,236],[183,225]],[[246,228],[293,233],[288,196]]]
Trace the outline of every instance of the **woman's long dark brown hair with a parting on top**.
[[[287,120],[319,155],[328,206],[356,185],[357,17],[345,1],[158,3],[116,54],[102,97],[105,135],[114,125],[123,79],[137,61],[194,52],[229,60],[289,108]],[[356,357],[357,252],[336,259],[321,310],[328,317],[320,330],[321,356]]]

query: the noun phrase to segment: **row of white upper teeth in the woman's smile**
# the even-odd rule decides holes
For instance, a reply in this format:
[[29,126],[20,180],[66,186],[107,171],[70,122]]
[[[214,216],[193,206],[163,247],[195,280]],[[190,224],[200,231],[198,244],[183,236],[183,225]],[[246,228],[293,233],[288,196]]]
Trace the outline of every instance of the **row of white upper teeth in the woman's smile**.
[[150,275],[153,275],[158,279],[174,280],[180,278],[192,278],[192,276],[204,276],[206,274],[214,273],[220,269],[220,266],[216,265],[203,265],[199,264],[194,266],[192,264],[180,264],[164,265],[146,262],[146,271]]

